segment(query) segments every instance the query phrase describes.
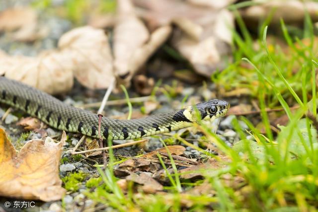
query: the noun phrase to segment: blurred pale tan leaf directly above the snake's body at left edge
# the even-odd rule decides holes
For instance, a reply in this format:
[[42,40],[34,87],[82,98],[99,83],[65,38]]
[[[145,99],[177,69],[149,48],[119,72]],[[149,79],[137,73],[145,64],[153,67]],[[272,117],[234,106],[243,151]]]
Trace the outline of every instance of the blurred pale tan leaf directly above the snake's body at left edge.
[[74,65],[69,55],[66,51],[43,52],[34,58],[1,54],[0,69],[7,78],[50,94],[63,93],[73,86]]

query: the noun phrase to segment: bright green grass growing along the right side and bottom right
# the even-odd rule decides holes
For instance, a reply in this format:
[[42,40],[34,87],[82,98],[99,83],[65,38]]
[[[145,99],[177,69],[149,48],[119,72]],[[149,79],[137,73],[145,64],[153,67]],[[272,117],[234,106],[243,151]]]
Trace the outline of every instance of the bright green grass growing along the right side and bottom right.
[[[220,155],[211,155],[188,141],[175,138],[224,165],[202,170],[203,180],[196,183],[182,181],[170,157],[172,173],[160,160],[170,182],[165,185],[166,194],[139,192],[136,195],[132,189],[126,194],[117,186],[118,179],[110,165],[105,171],[99,170],[105,187],[88,193],[88,197],[118,211],[316,211],[318,141],[312,120],[306,116],[309,111],[317,116],[318,64],[316,52],[312,50],[311,20],[306,16],[300,38],[290,34],[288,26],[281,21],[286,42],[284,49],[268,42],[266,24],[260,25],[259,37],[253,41],[243,21],[239,16],[237,18],[242,36],[233,32],[234,62],[225,71],[213,74],[212,80],[225,92],[239,88],[248,90],[248,98],[258,101],[261,124],[266,133],[261,134],[246,117],[237,117],[233,124],[242,140],[231,148],[209,126],[200,123],[195,127],[204,132],[209,142],[217,145]],[[269,22],[270,18],[265,21]],[[303,38],[309,39],[309,45],[300,41]],[[294,105],[299,105],[299,109],[292,111]],[[283,108],[279,114],[287,114],[289,122],[287,126],[280,126],[276,135],[270,128],[265,109],[277,107]],[[238,121],[245,122],[249,132],[242,131]],[[252,135],[253,141],[246,139],[247,135]],[[224,156],[231,162],[222,159]],[[198,185],[209,185],[211,191],[200,196],[187,193]]]

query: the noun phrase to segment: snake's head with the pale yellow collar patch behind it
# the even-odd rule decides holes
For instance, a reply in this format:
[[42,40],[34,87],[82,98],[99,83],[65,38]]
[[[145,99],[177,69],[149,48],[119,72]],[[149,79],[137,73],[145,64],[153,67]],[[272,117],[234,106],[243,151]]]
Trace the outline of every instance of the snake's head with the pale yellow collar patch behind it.
[[213,121],[218,117],[224,116],[228,112],[229,108],[230,104],[228,102],[224,100],[213,99],[206,102],[201,102],[195,106],[187,107],[183,114],[191,122],[198,122],[198,111],[201,115],[201,120]]

